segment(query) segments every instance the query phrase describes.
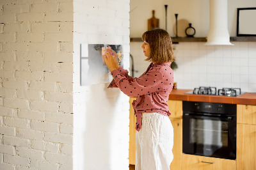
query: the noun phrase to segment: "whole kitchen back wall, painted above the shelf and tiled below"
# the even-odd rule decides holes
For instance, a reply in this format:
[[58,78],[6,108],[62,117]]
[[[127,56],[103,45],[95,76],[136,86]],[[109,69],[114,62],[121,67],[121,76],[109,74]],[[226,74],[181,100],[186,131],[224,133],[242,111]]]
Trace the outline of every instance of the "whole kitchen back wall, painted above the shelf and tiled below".
[[[145,4],[148,4],[147,6]],[[195,36],[207,36],[209,30],[209,1],[134,1],[131,0],[131,37],[141,37],[147,31],[147,19],[156,10],[160,27],[165,28],[164,4],[168,4],[168,33],[174,36],[174,13],[178,19],[187,19],[196,29]],[[256,1],[228,1],[228,30],[236,36],[236,8],[255,7]],[[170,8],[169,8],[170,7]],[[140,16],[140,17],[138,17]],[[134,57],[134,73],[138,77],[145,71],[148,63],[141,50],[142,42],[131,43]],[[242,91],[256,91],[256,43],[232,42],[234,46],[205,46],[203,42],[184,42],[173,45],[179,66],[174,71],[174,79],[180,89],[193,89],[199,86],[217,88],[241,88]]]

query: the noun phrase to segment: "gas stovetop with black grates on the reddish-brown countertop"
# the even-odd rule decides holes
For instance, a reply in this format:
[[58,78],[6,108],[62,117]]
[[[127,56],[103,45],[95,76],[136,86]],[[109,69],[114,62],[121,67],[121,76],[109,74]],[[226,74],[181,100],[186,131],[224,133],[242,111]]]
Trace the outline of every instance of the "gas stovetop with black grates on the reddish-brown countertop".
[[216,95],[216,96],[226,96],[226,97],[237,97],[241,95],[241,88],[222,88],[218,89],[215,87],[199,87],[195,88],[193,91],[186,92],[186,94],[193,95]]

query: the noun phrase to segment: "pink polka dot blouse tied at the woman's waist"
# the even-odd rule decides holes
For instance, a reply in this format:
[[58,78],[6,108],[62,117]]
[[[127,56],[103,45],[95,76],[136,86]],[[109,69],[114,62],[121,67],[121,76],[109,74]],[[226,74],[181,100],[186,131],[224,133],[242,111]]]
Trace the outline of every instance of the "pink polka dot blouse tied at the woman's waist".
[[141,129],[143,112],[158,112],[170,116],[168,98],[173,88],[173,70],[170,63],[151,63],[140,77],[133,78],[128,71],[120,67],[113,70],[114,79],[108,88],[120,88],[125,95],[137,97],[132,102],[136,116],[136,130]]

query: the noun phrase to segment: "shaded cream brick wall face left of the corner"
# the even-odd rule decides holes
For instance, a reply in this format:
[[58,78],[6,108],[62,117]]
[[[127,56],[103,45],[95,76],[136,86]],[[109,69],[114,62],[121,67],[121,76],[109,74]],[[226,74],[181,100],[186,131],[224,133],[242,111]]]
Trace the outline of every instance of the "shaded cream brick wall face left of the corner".
[[1,0],[0,20],[0,169],[72,169],[73,0]]

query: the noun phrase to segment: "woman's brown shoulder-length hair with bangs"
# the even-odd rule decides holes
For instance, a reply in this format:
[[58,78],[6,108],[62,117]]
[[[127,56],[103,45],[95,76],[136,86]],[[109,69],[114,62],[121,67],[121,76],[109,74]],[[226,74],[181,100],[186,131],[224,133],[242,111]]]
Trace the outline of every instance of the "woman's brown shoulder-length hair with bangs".
[[166,63],[175,61],[172,39],[164,29],[152,29],[142,35],[142,40],[150,45],[150,56],[145,61]]

